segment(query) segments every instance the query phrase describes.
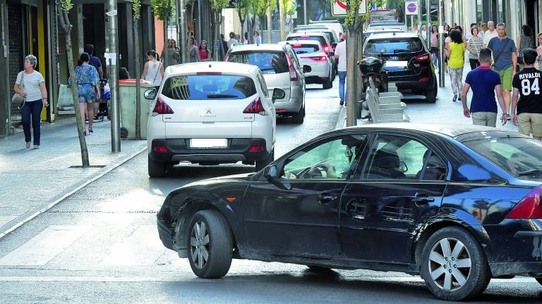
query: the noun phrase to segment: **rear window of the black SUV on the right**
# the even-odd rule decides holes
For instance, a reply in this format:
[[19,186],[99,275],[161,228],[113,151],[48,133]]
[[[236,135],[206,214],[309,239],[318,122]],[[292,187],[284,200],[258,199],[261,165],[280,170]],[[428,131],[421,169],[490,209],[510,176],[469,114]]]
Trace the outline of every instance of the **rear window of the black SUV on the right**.
[[421,40],[419,38],[386,38],[369,40],[363,49],[363,54],[366,56],[371,56],[380,53],[416,53],[422,50],[423,44],[421,44]]

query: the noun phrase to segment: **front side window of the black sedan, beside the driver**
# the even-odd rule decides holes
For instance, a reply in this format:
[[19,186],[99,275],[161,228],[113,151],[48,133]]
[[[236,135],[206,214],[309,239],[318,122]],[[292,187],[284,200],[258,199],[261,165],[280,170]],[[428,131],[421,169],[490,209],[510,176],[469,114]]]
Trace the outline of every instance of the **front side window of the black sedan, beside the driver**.
[[281,178],[350,179],[366,139],[366,134],[343,135],[307,146],[284,161]]

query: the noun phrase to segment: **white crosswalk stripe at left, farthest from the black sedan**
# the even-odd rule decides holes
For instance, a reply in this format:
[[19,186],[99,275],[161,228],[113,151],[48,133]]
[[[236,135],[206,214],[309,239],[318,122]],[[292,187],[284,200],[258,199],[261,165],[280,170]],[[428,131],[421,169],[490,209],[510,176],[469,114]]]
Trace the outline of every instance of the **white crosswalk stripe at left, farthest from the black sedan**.
[[4,258],[0,265],[45,265],[56,255],[77,241],[92,226],[49,226]]

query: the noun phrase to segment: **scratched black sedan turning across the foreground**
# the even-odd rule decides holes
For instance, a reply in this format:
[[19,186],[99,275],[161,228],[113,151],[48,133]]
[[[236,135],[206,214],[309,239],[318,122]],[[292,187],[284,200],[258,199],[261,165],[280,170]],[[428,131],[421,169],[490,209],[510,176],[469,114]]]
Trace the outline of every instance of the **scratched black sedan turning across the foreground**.
[[202,278],[232,258],[420,274],[464,300],[491,278],[542,284],[542,144],[489,127],[370,125],[321,135],[264,170],[188,184],[160,239]]

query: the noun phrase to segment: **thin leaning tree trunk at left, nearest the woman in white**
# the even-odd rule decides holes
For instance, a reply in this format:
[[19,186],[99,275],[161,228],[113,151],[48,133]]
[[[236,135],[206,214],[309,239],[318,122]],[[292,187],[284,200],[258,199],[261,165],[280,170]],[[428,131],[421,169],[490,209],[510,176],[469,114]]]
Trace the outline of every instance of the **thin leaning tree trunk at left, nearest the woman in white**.
[[[60,6],[57,6],[61,10]],[[68,18],[67,12],[62,12],[61,15],[64,17],[64,22],[68,26],[68,29],[71,29],[70,20]],[[76,109],[76,122],[77,122],[77,132],[79,135],[79,145],[81,147],[81,162],[83,167],[89,167],[90,161],[88,159],[88,148],[87,141],[85,140],[85,134],[83,134],[83,122],[81,120],[81,111],[79,109],[79,99],[77,94],[77,80],[76,80],[76,70],[73,66],[73,51],[71,49],[71,30],[68,30],[66,33],[66,56],[68,57],[68,70],[71,78],[71,96],[73,97],[73,108]]]

